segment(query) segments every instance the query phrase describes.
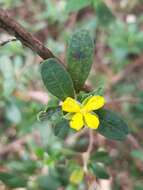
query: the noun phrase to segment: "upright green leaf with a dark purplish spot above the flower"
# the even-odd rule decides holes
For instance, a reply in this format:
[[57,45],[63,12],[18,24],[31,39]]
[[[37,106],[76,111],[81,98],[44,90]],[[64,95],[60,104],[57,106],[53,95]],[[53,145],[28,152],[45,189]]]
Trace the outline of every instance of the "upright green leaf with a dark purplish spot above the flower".
[[68,42],[67,63],[68,71],[74,82],[74,87],[79,91],[88,75],[93,63],[94,44],[87,30],[75,32]]

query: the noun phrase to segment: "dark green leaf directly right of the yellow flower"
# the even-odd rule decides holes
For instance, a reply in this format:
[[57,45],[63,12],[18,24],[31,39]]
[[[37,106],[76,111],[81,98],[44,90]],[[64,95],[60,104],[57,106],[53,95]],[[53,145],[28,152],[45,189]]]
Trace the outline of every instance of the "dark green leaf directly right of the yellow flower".
[[101,135],[111,140],[122,141],[126,138],[129,133],[128,126],[118,114],[107,109],[101,109],[96,113],[100,120],[100,126],[97,131]]

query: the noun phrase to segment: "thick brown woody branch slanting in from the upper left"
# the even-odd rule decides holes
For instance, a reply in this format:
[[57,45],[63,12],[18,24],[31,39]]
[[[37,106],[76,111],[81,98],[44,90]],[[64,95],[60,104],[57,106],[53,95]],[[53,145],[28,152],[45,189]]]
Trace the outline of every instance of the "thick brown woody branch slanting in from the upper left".
[[32,49],[42,59],[55,57],[53,53],[46,48],[35,36],[26,31],[18,22],[0,8],[0,28],[6,30],[10,35],[15,36],[23,45]]

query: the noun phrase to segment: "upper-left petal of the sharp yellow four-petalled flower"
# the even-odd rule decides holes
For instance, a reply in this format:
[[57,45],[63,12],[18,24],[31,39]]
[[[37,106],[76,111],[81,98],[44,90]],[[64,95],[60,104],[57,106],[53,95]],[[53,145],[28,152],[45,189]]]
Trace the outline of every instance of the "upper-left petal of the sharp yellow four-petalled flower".
[[80,106],[73,98],[68,97],[62,103],[62,110],[70,113],[76,113],[80,111]]

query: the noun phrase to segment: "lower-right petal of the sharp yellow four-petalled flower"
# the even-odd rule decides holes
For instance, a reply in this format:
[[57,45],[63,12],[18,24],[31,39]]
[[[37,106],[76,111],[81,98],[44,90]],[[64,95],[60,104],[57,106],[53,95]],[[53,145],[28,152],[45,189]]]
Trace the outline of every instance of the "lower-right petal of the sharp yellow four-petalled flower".
[[97,115],[91,113],[84,114],[84,119],[89,128],[97,129],[99,126],[99,119]]

